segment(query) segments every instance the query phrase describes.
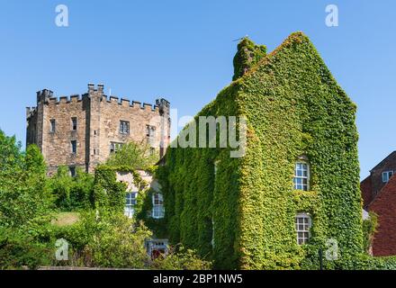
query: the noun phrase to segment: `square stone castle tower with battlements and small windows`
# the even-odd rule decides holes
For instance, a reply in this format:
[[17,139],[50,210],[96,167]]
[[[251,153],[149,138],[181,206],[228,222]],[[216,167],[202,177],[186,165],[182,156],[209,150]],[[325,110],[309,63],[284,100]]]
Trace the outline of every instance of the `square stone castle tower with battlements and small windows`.
[[162,157],[170,140],[169,109],[162,98],[155,105],[108,98],[101,84],[59,99],[44,89],[37,92],[37,106],[26,108],[26,144],[39,146],[49,175],[62,165],[72,175],[76,167],[92,173],[129,141],[148,143]]

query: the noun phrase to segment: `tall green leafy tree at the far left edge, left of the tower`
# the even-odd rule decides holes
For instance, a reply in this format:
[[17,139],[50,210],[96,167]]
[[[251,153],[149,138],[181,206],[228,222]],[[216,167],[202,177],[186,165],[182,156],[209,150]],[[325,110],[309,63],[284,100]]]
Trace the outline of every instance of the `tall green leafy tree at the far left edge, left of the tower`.
[[37,146],[23,153],[1,130],[0,151],[0,227],[28,227],[50,209],[44,159]]

